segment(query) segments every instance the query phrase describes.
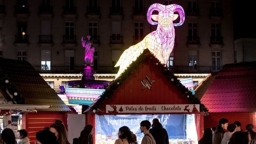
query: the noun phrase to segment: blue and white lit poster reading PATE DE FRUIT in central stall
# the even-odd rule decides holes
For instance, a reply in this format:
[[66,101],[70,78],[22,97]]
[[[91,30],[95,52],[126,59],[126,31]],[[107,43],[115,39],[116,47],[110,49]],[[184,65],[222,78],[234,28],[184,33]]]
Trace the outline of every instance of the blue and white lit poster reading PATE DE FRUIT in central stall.
[[168,133],[169,140],[197,140],[194,114],[192,115],[95,115],[95,142],[114,144],[118,139],[118,130],[127,126],[137,135],[140,143],[144,134],[140,132],[140,122],[158,118]]

